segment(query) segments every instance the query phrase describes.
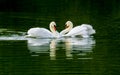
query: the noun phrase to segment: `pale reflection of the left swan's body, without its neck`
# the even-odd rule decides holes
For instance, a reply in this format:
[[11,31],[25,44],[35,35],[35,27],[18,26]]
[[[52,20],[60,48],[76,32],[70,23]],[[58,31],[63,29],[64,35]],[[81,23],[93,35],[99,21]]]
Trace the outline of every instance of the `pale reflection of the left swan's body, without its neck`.
[[51,39],[28,38],[28,49],[30,53],[49,53],[49,41]]

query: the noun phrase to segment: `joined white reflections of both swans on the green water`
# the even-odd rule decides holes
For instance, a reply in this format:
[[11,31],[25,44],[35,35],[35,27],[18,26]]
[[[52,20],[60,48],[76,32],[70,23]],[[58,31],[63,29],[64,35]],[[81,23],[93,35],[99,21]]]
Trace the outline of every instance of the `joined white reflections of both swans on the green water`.
[[47,53],[50,60],[57,59],[59,57],[57,51],[61,49],[65,50],[66,59],[74,59],[75,57],[77,59],[91,59],[94,46],[95,40],[93,38],[28,39],[30,53],[37,55]]

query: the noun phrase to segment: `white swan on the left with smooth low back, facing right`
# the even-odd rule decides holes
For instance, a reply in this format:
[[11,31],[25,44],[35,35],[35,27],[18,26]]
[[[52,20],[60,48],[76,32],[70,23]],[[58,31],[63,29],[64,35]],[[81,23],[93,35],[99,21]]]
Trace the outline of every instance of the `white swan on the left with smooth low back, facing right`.
[[33,38],[57,38],[59,37],[59,33],[56,30],[56,23],[54,21],[49,24],[50,31],[46,28],[30,28],[27,31],[26,37]]

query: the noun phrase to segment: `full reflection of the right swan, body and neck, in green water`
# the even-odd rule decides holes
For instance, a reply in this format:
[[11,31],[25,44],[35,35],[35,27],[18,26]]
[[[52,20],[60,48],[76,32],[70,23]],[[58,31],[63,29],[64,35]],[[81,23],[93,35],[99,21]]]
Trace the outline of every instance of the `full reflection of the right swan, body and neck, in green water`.
[[[66,58],[73,59],[77,56],[78,59],[91,59],[89,56],[95,46],[93,38],[67,38],[65,39]],[[86,57],[88,56],[88,57]]]

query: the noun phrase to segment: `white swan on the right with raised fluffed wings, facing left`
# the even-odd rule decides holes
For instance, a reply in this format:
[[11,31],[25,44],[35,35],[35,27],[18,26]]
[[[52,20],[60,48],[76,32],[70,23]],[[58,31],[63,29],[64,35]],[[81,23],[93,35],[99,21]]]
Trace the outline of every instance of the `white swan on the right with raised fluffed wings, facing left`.
[[73,28],[73,23],[71,21],[66,22],[66,29],[60,32],[62,36],[76,37],[81,36],[83,38],[90,37],[90,35],[95,34],[95,30],[89,24],[82,24]]

